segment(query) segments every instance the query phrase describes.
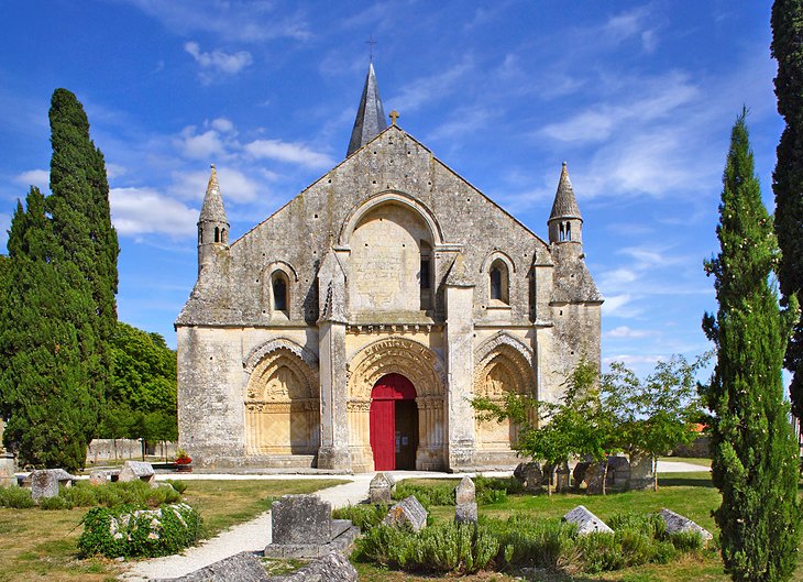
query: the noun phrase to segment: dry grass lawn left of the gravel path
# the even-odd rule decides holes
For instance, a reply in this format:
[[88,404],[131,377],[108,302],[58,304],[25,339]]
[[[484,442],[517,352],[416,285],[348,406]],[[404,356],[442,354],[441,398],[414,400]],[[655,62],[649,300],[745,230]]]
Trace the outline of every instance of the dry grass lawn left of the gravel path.
[[[202,515],[212,536],[270,508],[268,497],[311,493],[342,480],[188,481],[185,498]],[[110,582],[123,567],[102,558],[77,557],[86,508],[43,512],[0,508],[0,582]]]

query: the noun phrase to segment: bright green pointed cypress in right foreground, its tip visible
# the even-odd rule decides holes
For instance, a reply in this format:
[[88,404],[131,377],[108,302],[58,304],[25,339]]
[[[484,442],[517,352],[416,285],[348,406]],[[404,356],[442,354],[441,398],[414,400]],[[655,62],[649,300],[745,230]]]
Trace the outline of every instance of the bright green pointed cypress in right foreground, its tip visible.
[[800,539],[798,447],[781,377],[791,319],[771,283],[777,239],[745,117],[734,125],[723,176],[721,252],[706,262],[719,308],[703,328],[717,348],[708,400],[725,571],[735,581],[770,582],[789,580]]

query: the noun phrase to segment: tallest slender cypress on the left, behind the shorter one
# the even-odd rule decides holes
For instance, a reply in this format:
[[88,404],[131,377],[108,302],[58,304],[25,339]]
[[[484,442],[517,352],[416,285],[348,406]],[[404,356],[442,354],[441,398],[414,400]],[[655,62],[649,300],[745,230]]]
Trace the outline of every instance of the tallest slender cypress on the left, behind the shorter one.
[[[117,232],[111,224],[103,154],[89,138],[84,107],[67,89],[53,92],[50,110],[51,190],[47,208],[66,262],[77,267],[68,283],[89,282],[89,303],[75,320],[95,397],[103,399],[111,378],[111,339],[117,326]],[[97,421],[95,422],[97,424]]]

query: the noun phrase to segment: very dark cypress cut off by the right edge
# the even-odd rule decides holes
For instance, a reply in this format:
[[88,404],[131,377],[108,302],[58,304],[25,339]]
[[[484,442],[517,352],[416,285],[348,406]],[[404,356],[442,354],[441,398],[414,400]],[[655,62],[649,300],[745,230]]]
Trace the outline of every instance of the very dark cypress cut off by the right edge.
[[[778,144],[773,174],[776,232],[783,253],[778,278],[783,301],[802,299],[803,289],[803,0],[772,4],[772,56],[778,59],[776,96],[787,127]],[[792,372],[792,411],[803,417],[803,315],[789,340],[787,369]]]

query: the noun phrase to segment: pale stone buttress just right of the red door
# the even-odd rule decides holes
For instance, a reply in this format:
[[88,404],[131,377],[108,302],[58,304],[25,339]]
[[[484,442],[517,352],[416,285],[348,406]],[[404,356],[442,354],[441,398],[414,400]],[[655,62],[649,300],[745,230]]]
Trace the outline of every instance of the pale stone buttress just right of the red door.
[[[455,266],[460,259],[455,260]],[[470,403],[474,374],[474,285],[457,277],[448,279],[446,296],[447,468],[459,471],[474,464],[474,409]]]

